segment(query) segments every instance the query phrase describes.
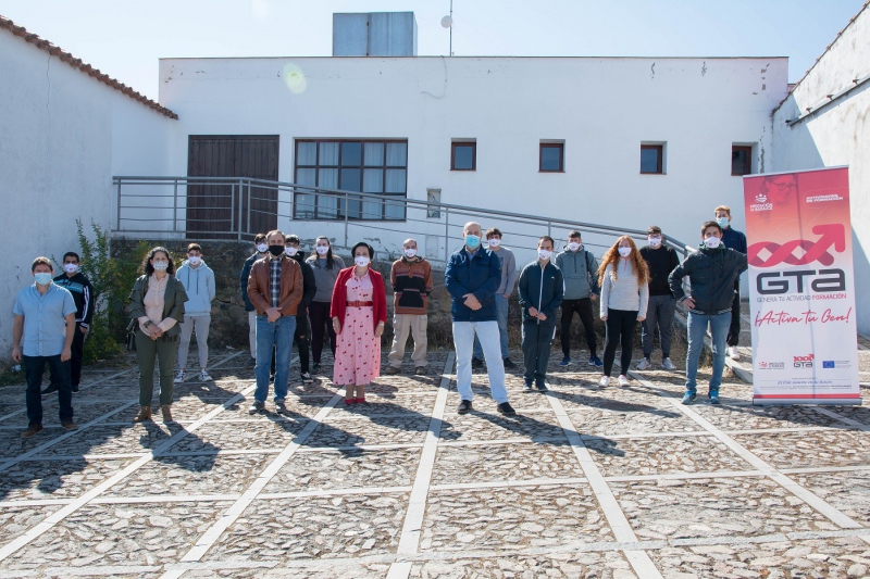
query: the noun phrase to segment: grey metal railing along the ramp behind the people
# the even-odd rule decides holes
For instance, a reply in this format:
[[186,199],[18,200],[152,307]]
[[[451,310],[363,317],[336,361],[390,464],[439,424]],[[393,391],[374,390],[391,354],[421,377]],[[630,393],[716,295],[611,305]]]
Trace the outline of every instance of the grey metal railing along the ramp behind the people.
[[[330,237],[336,249],[349,249],[363,239],[384,257],[398,255],[401,241],[414,237],[419,247],[424,246],[421,254],[442,263],[461,247],[462,228],[470,221],[484,229],[498,227],[506,246],[519,251],[518,263],[524,263],[523,253],[534,255],[545,232],[557,239],[558,250],[562,244],[558,240],[579,229],[584,246],[597,255],[617,236],[646,239],[645,230],[620,226],[247,177],[119,176],[113,185],[112,232],[121,237],[243,241],[279,228],[299,235],[303,246],[320,235]],[[669,236],[663,242],[683,256],[695,251]]]

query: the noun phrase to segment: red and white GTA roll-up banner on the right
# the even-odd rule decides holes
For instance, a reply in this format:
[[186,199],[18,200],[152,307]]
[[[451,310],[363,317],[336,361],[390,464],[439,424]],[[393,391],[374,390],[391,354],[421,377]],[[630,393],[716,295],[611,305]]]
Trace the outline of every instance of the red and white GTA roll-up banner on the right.
[[860,404],[848,167],[744,177],[755,404]]

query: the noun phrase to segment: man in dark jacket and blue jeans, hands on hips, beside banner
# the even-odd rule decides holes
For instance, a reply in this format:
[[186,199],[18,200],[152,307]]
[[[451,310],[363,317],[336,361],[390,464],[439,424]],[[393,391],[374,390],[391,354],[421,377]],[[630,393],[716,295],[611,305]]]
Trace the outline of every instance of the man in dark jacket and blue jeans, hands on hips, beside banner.
[[[707,326],[713,342],[713,368],[710,377],[710,404],[719,404],[719,387],[725,368],[725,341],[731,326],[734,280],[746,269],[746,255],[722,243],[722,227],[706,222],[700,228],[704,242],[699,251],[683,260],[668,278],[671,291],[688,307],[688,353],[686,354],[686,392],[683,404],[695,402],[698,357]],[[692,295],[683,290],[683,278],[692,281]]]

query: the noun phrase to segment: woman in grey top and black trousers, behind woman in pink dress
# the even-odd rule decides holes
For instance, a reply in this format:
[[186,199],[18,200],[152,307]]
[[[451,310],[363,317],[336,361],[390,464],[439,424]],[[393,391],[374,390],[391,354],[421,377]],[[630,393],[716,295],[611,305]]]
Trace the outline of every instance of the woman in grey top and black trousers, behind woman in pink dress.
[[308,317],[311,320],[311,357],[314,365],[312,374],[320,374],[320,357],[323,353],[323,338],[330,335],[330,350],[335,356],[335,330],[330,319],[330,307],[333,300],[333,288],[338,277],[338,272],[345,268],[345,262],[338,255],[333,255],[330,238],[320,236],[314,241],[314,250],[308,256],[308,263],[314,270],[314,284],[318,287],[314,299],[308,306]]

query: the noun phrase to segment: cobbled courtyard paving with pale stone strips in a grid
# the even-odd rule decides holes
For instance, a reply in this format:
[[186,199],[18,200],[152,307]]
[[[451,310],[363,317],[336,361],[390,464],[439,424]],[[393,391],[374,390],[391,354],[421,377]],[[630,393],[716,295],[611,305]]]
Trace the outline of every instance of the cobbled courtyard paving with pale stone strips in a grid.
[[599,390],[554,355],[547,394],[508,374],[518,416],[485,374],[460,416],[432,352],[364,406],[331,360],[308,386],[294,366],[288,412],[249,415],[245,358],[177,385],[171,424],[132,424],[134,369],[86,373],[75,432],[46,397],[29,440],[0,390],[0,577],[870,577],[865,407],[757,407],[737,382],[682,406],[679,372]]

